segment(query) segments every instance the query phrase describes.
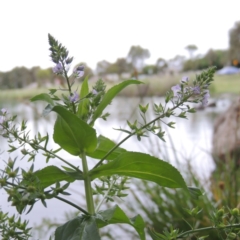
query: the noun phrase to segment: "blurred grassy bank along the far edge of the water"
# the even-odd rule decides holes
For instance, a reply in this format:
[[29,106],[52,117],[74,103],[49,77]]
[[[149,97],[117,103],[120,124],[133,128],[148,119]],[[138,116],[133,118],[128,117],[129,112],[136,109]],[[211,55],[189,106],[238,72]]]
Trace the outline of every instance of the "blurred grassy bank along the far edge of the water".
[[[132,85],[124,89],[120,95],[122,96],[163,96],[171,86],[177,84],[183,75],[179,74],[174,76],[154,76],[141,81],[145,84]],[[194,78],[195,74],[187,74],[191,79]],[[219,95],[223,93],[240,94],[240,75],[226,75],[219,76],[215,75],[215,81],[211,87],[212,95]],[[107,88],[114,85],[113,82],[107,82]],[[58,88],[58,87],[56,87]],[[48,92],[46,88],[37,89],[11,89],[11,90],[0,90],[0,101],[15,99],[29,99],[39,93]]]

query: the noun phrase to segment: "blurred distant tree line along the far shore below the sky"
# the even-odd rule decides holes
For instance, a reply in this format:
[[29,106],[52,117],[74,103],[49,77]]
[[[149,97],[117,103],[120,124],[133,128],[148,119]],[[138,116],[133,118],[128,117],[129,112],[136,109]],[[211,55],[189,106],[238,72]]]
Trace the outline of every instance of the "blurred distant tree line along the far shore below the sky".
[[[125,73],[136,76],[138,74],[164,74],[172,71],[195,71],[209,66],[216,66],[218,69],[226,65],[240,67],[240,22],[236,22],[229,31],[229,49],[227,50],[210,49],[205,55],[195,57],[196,45],[189,44],[185,49],[189,52],[189,59],[179,55],[170,60],[160,57],[155,64],[145,65],[145,60],[150,57],[149,50],[141,46],[132,46],[126,58],[118,58],[114,63],[106,60],[98,62],[95,74],[100,77],[115,74],[121,79],[124,78]],[[86,63],[78,65],[80,64],[85,66],[85,76],[91,78],[94,75],[93,70]],[[16,67],[8,72],[0,72],[0,89],[25,88],[30,84],[40,87],[47,83],[54,84],[55,81],[61,83],[62,79],[60,76],[55,76],[51,68]]]

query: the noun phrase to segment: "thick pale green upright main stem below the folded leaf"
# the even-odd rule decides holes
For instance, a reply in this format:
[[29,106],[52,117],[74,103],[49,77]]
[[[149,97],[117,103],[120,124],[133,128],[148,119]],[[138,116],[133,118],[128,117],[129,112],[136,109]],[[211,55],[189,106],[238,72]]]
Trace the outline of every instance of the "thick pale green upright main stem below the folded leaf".
[[86,203],[89,214],[93,215],[95,213],[94,203],[93,203],[93,194],[92,194],[92,186],[91,186],[91,178],[89,176],[87,158],[85,152],[80,155],[82,159],[83,166],[83,175],[84,175],[84,186],[85,186],[85,194],[86,194]]

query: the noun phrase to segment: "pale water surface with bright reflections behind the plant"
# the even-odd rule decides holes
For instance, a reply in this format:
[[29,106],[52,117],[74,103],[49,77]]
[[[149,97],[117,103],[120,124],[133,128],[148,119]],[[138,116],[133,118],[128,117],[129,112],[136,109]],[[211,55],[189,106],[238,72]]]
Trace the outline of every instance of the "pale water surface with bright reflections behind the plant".
[[[149,103],[160,103],[164,99],[162,98],[144,98],[141,100],[141,104]],[[95,124],[98,134],[107,136],[108,138],[120,141],[125,137],[125,133],[116,131],[114,129],[127,128],[126,120],[139,119],[139,112],[137,106],[140,103],[139,98],[116,98],[112,104],[107,108],[107,111],[111,113],[108,121],[98,120]],[[136,137],[133,137],[127,142],[125,142],[122,147],[130,151],[141,151],[145,153],[152,154],[161,159],[170,161],[173,165],[179,168],[179,162],[184,168],[186,161],[190,161],[190,164],[194,166],[197,173],[206,178],[209,176],[211,171],[214,169],[214,164],[210,155],[211,152],[211,138],[213,121],[216,115],[224,111],[230,104],[230,101],[217,101],[215,108],[208,108],[204,111],[199,111],[195,114],[188,116],[188,120],[185,119],[171,119],[171,121],[176,122],[176,128],[170,129],[166,128],[166,143],[160,141],[156,136],[150,135],[149,138],[142,138],[139,142]],[[49,133],[52,135],[52,128],[55,121],[55,115],[51,113],[47,118],[41,117],[41,112],[44,105],[41,103],[15,103],[15,104],[5,104],[1,107],[8,109],[9,113],[19,115],[18,121],[21,119],[26,119],[28,121],[28,129],[31,130],[32,135],[36,134],[38,131],[41,132],[42,136]],[[149,120],[153,118],[153,113],[148,115]],[[168,119],[166,119],[167,121]],[[51,147],[57,148],[54,142],[49,143]],[[6,139],[0,138],[0,151],[7,149]],[[74,162],[76,165],[80,165],[79,159],[73,157],[65,152],[61,152],[61,157],[64,157],[68,161]],[[17,156],[19,155],[19,156]],[[19,157],[19,153],[13,153],[10,155],[12,158]],[[7,161],[8,154],[3,152],[0,155],[0,167],[2,168],[4,163],[3,160]],[[94,160],[93,160],[94,161]],[[92,162],[93,163],[93,162]],[[61,162],[53,159],[50,161],[49,165],[61,165]],[[23,168],[29,168],[30,165],[26,160],[18,161],[18,165]],[[45,159],[41,158],[41,155],[37,156],[34,163],[35,170],[42,168],[45,165]],[[83,201],[83,186],[82,183],[76,182],[72,184],[73,193],[70,196],[70,200],[74,199],[79,204],[84,205]],[[79,192],[80,194],[76,194]],[[15,210],[7,202],[7,195],[3,190],[0,190],[1,203],[0,206],[5,212],[16,213]],[[66,206],[58,200],[51,200],[47,202],[48,208],[44,208],[40,203],[35,205],[35,208],[24,218],[29,219],[30,223],[40,223],[43,217],[56,218],[58,222],[63,219],[63,212],[73,210],[72,207]],[[46,238],[47,239],[47,238]]]

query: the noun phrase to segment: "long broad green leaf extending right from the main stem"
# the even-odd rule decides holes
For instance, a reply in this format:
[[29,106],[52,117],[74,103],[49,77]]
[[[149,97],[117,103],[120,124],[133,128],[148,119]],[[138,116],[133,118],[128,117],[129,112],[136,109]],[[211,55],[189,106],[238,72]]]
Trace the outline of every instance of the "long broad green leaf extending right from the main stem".
[[139,152],[122,153],[115,160],[92,169],[89,174],[92,180],[118,174],[152,181],[163,187],[187,189],[181,174],[171,164]]

